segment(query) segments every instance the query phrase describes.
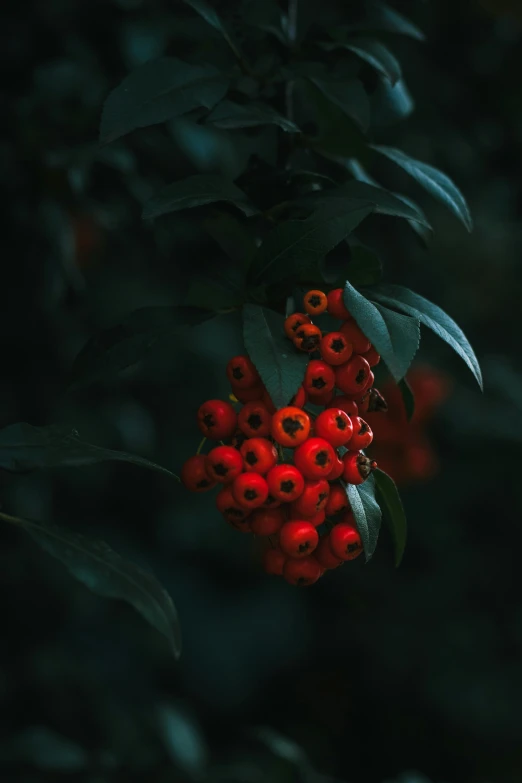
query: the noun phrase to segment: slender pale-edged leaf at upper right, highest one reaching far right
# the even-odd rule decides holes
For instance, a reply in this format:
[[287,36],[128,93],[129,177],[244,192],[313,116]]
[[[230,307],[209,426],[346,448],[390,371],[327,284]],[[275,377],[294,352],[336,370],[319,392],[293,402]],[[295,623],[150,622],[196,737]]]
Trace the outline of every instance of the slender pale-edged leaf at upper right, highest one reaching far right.
[[394,147],[370,146],[371,149],[380,152],[381,155],[403,168],[434,198],[445,204],[464,223],[468,231],[472,230],[473,221],[466,200],[446,174],[443,174],[433,166],[428,166],[427,163],[410,158],[409,155]]

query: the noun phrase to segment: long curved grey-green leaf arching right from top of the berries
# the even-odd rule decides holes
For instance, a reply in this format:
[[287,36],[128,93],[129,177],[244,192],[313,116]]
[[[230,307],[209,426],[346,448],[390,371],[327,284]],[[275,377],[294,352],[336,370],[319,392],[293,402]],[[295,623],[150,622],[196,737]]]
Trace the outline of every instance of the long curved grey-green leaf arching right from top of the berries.
[[369,295],[378,302],[418,318],[424,326],[453,348],[468,365],[480,388],[483,388],[482,372],[475,352],[462,329],[444,310],[409,288],[399,285],[376,286],[371,289]]

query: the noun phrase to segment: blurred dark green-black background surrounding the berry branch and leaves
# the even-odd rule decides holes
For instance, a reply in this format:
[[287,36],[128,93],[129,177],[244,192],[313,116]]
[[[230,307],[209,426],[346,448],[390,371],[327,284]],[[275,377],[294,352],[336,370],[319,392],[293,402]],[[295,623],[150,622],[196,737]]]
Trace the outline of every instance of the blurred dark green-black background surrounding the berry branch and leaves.
[[[226,394],[236,316],[160,346],[112,384],[64,388],[98,328],[182,301],[203,252],[191,217],[145,224],[141,202],[194,155],[233,166],[234,149],[173,140],[163,126],[97,148],[108,91],[150,58],[182,56],[175,5],[21,0],[2,5],[0,26],[0,424],[63,422],[174,471],[197,445],[199,404]],[[425,335],[423,377],[453,381],[397,457],[403,565],[384,531],[369,565],[298,591],[262,573],[255,542],[220,522],[208,496],[162,476],[112,463],[0,475],[6,511],[102,537],[152,568],[184,634],[175,664],[133,610],[2,529],[2,780],[263,783],[319,779],[313,769],[347,783],[522,779],[522,14],[501,6],[401,4],[427,41],[392,47],[416,110],[377,140],[450,174],[476,227],[468,235],[395,170],[436,233],[426,251],[407,226],[392,233],[375,218],[385,279],[456,317],[485,376],[481,395]],[[409,437],[422,439],[429,481],[418,452],[406,464]]]

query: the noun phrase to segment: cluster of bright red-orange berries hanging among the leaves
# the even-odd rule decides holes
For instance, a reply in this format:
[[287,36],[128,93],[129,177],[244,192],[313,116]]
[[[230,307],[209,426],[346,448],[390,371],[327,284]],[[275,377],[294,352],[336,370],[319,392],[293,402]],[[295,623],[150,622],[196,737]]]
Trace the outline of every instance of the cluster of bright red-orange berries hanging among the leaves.
[[[237,412],[222,400],[200,407],[201,432],[221,445],[190,457],[181,473],[194,492],[221,484],[216,505],[224,518],[238,530],[268,537],[265,570],[295,585],[312,584],[362,552],[345,485],[362,484],[377,466],[362,451],[373,433],[361,414],[386,408],[373,389],[371,368],[380,356],[342,294],[341,288],[328,296],[309,291],[306,313],[285,321],[296,348],[310,354],[288,407],[276,410],[248,356],[229,361],[227,376],[242,407]],[[323,334],[312,323],[312,315],[326,311],[342,321],[338,331]],[[307,411],[308,402],[324,410]]]

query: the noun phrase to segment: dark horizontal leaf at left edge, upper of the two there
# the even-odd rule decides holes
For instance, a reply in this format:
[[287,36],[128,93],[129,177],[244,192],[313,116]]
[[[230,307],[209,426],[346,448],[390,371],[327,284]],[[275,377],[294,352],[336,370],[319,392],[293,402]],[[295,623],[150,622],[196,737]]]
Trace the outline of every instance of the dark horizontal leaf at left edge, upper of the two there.
[[94,465],[107,461],[130,462],[178,479],[170,470],[148,459],[93,446],[81,441],[74,430],[64,430],[56,425],[33,427],[20,422],[0,430],[0,468],[14,473],[64,465]]

